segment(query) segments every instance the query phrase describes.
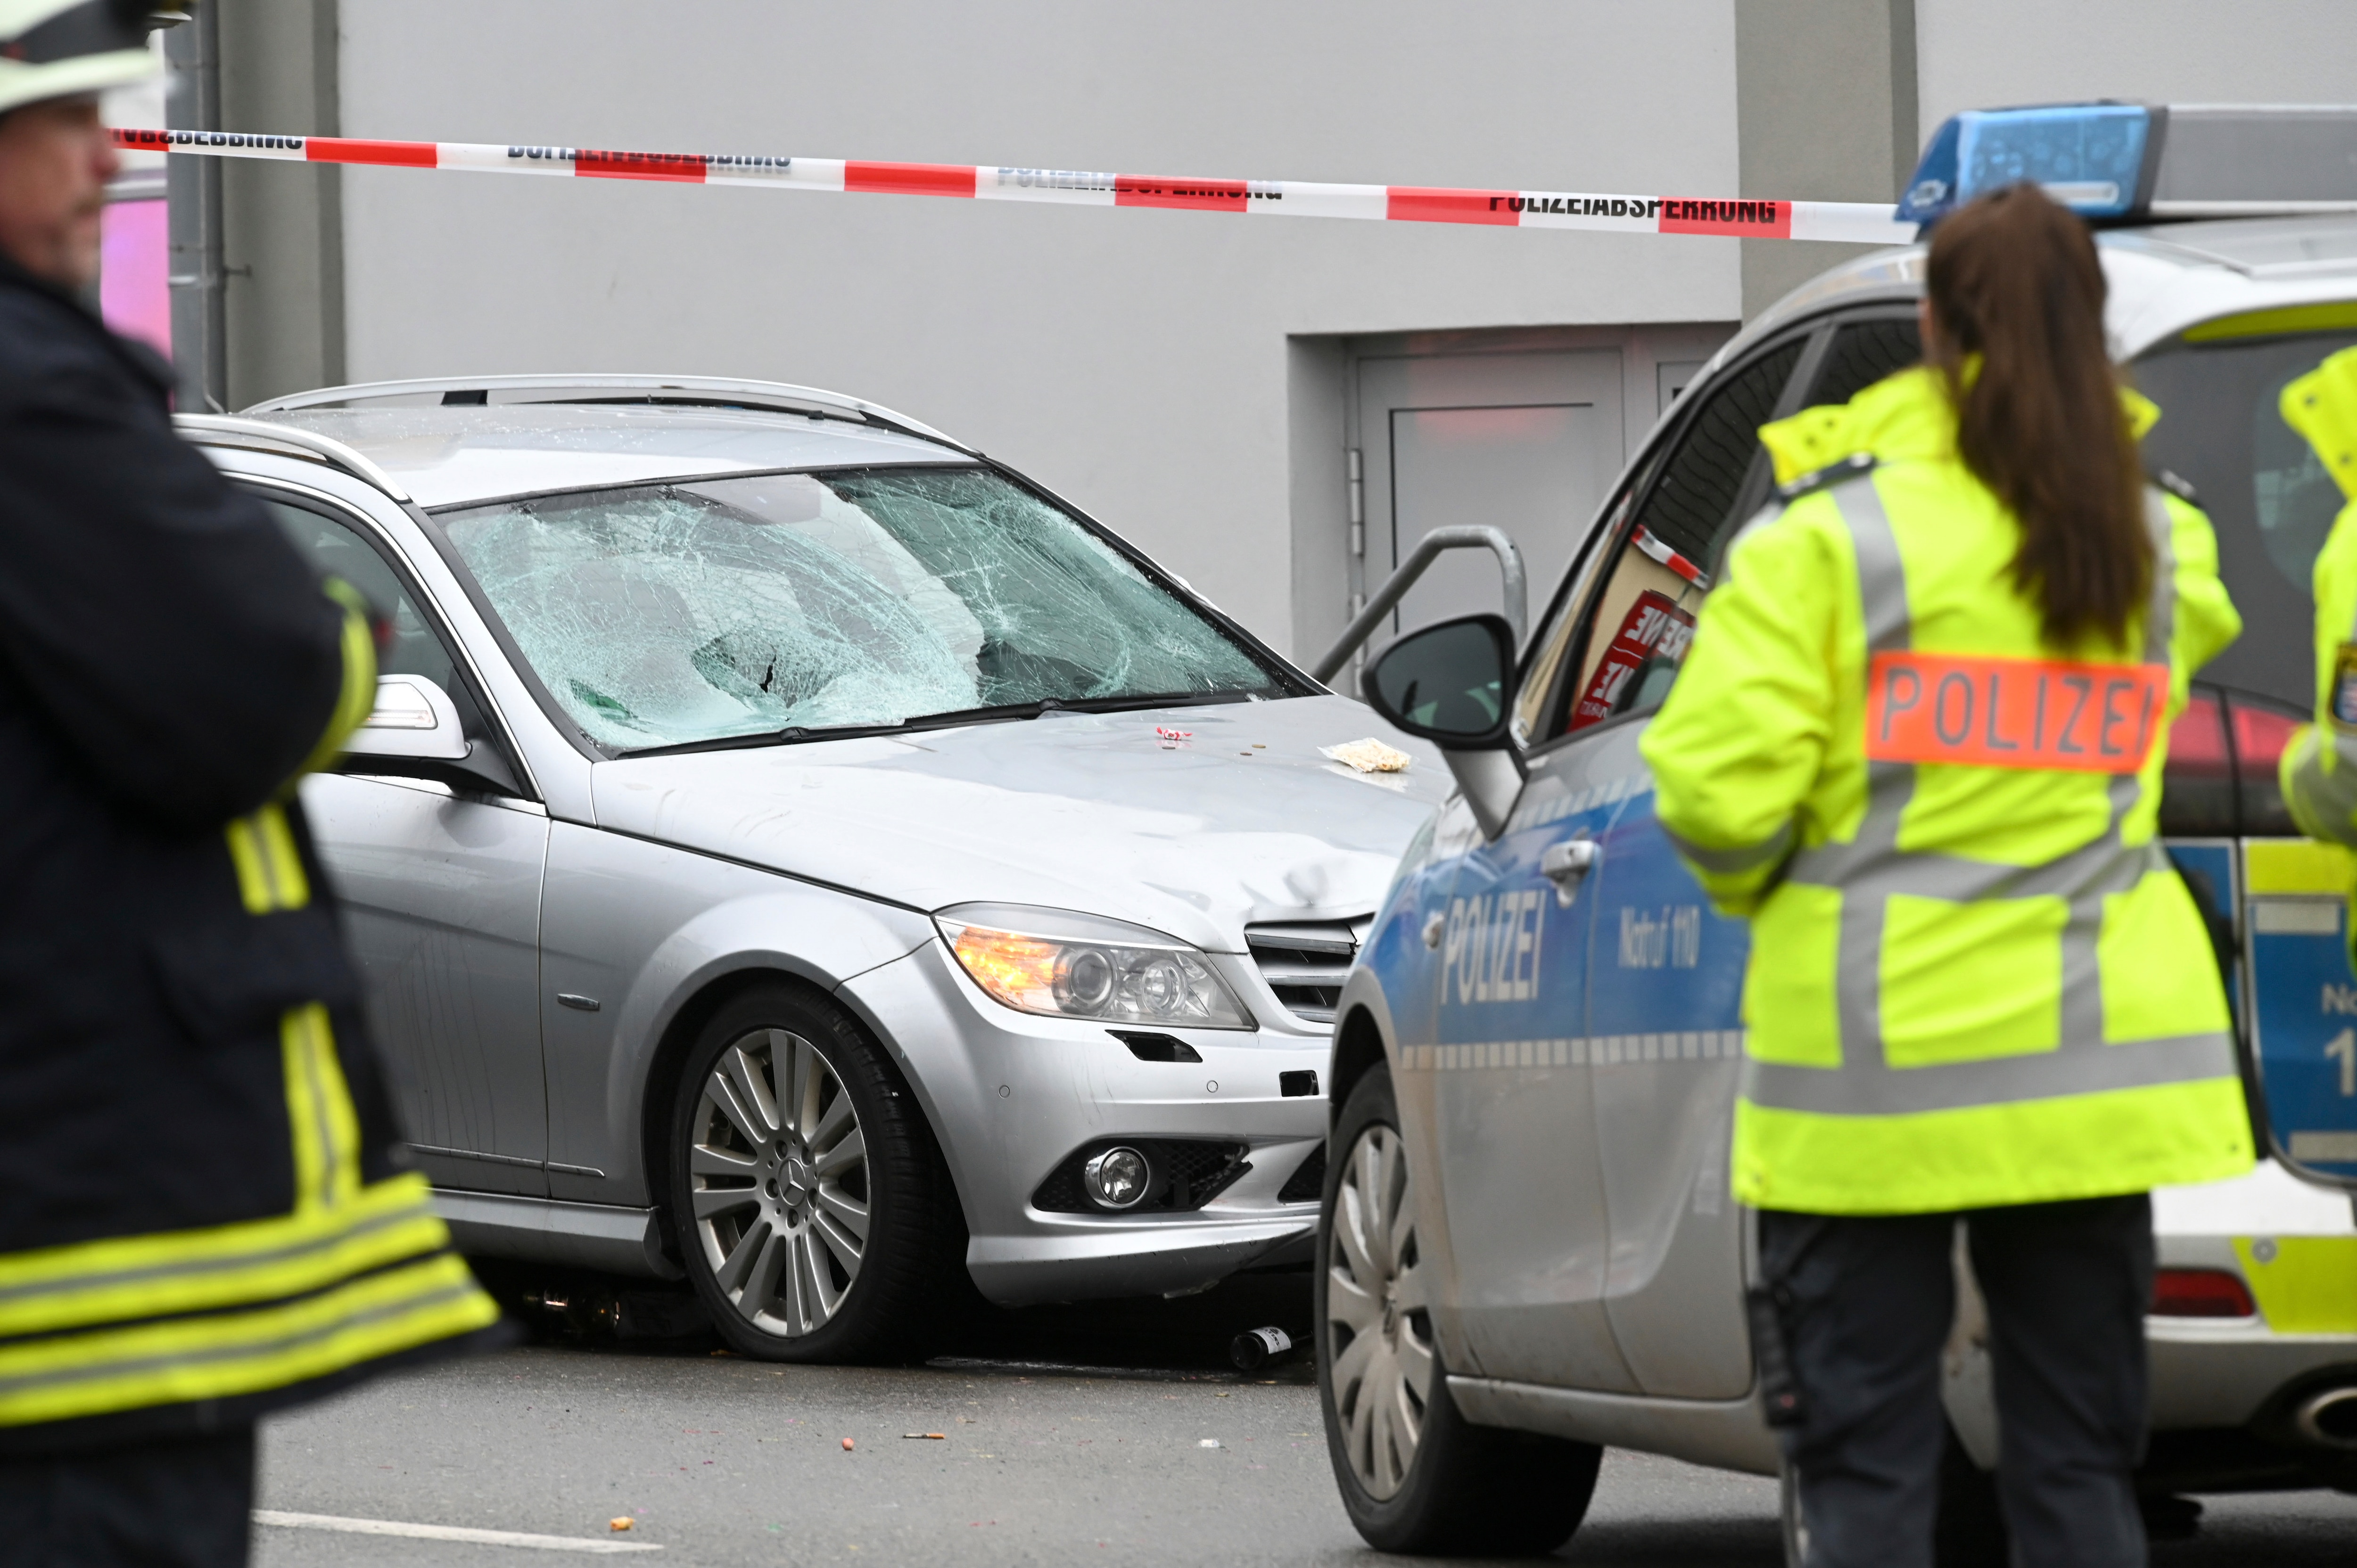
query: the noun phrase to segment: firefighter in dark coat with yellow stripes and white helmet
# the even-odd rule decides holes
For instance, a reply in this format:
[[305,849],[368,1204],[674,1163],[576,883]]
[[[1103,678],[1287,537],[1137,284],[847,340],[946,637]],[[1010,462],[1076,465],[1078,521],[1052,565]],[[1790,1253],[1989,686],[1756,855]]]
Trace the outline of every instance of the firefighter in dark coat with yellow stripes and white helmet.
[[0,0],[0,1556],[243,1563],[255,1419],[493,1332],[295,780],[365,606],[82,299],[153,0]]

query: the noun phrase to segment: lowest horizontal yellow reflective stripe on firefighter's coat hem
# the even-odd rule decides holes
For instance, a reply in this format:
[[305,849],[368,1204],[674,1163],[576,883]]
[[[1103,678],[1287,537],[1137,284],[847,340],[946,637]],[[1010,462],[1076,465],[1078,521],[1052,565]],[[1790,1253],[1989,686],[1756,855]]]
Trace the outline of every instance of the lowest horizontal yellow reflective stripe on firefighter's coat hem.
[[299,1302],[0,1349],[0,1427],[283,1389],[500,1320],[464,1259]]

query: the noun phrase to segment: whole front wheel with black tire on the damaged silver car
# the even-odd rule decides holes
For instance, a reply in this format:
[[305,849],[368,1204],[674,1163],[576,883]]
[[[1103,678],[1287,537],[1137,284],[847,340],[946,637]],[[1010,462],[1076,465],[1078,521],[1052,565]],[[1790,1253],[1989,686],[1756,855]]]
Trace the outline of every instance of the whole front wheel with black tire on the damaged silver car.
[[761,1361],[891,1361],[948,1330],[964,1224],[884,1049],[816,990],[754,986],[688,1049],[672,1233],[721,1342]]

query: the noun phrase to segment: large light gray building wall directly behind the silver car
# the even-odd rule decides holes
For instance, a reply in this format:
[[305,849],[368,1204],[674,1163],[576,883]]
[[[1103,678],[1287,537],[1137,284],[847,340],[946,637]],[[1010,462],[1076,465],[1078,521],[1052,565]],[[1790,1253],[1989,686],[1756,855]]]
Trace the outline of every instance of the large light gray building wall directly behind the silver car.
[[[356,137],[1737,189],[1728,0],[342,9]],[[1339,559],[1294,559],[1294,495],[1329,505],[1341,472],[1339,429],[1292,417],[1289,370],[1320,351],[1296,340],[1732,321],[1742,302],[1735,241],[344,182],[351,377],[641,368],[856,391],[1037,476],[1303,655],[1296,613],[1339,622],[1346,587]]]

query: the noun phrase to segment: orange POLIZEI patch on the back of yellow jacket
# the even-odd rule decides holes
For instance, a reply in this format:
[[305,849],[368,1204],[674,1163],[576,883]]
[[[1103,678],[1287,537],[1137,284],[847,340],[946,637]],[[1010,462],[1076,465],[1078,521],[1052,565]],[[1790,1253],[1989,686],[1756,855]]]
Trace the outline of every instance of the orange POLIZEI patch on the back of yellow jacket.
[[1867,757],[2133,773],[2168,712],[2168,665],[1876,653]]

